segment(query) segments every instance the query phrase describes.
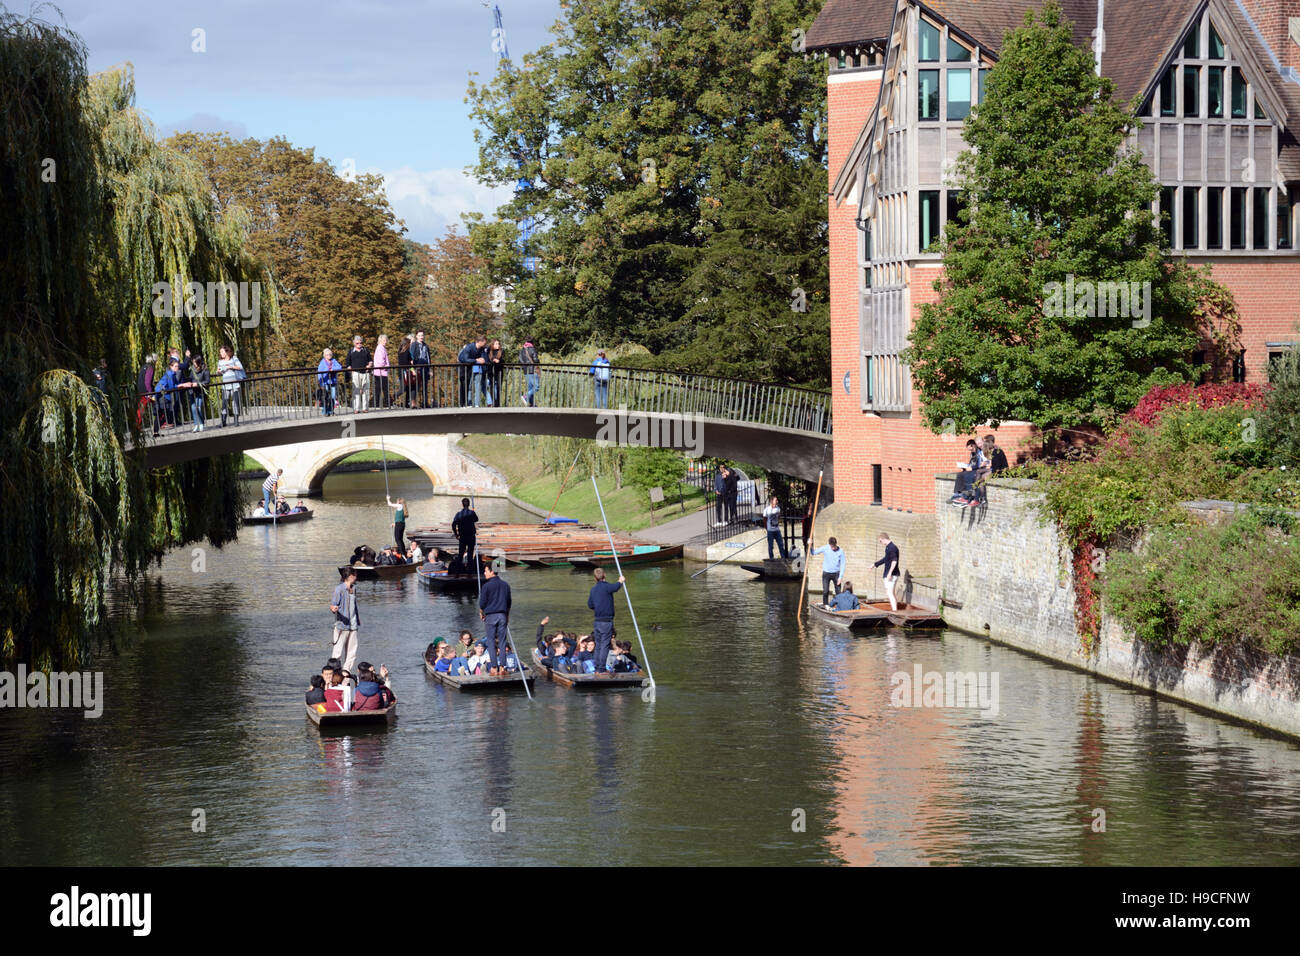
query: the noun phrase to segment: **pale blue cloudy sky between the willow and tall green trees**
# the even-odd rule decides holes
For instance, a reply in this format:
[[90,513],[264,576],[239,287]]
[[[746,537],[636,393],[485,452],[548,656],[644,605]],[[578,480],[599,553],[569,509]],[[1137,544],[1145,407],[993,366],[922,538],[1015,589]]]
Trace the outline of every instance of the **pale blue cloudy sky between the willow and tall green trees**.
[[[465,172],[477,160],[471,73],[497,70],[482,0],[0,0],[62,20],[91,72],[135,68],[136,105],[159,127],[282,135],[343,169],[384,176],[407,237],[433,242],[464,212],[510,196]],[[559,0],[499,0],[516,62],[549,43]],[[202,34],[195,34],[202,30]],[[199,52],[196,47],[203,47]]]

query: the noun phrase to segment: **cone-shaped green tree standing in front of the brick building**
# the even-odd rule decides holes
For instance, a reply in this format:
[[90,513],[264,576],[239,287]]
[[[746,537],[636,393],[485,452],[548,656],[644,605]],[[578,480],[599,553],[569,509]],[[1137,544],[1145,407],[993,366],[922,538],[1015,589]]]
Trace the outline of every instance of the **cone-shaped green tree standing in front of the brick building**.
[[[1191,378],[1202,299],[1221,321],[1225,297],[1231,311],[1208,273],[1164,254],[1157,185],[1124,148],[1140,121],[1114,95],[1054,0],[1008,35],[966,120],[967,202],[941,243],[941,297],[904,356],[933,431],[1102,423]],[[1121,289],[1136,307],[1112,307]]]

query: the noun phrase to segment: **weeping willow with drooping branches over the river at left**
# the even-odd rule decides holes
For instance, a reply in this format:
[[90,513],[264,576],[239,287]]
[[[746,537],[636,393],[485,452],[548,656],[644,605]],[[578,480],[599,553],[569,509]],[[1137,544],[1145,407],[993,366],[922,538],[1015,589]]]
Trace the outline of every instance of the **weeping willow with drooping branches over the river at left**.
[[[133,104],[129,70],[91,79],[74,34],[0,10],[4,662],[83,665],[112,637],[114,572],[135,581],[166,548],[220,546],[237,527],[233,459],[146,471],[127,393],[169,345],[256,351],[276,320],[270,276],[238,212],[217,215],[198,166]],[[260,282],[260,328],[203,307],[155,315],[160,281]],[[101,358],[121,392],[88,384]]]

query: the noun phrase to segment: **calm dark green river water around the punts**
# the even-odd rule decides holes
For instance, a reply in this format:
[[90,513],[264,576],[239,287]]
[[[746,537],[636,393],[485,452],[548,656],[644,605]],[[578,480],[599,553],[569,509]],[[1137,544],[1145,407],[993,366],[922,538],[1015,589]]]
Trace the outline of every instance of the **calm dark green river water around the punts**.
[[[408,527],[459,507],[420,472],[391,480]],[[205,571],[169,555],[159,610],[104,666],[100,719],[0,711],[5,864],[306,865],[344,842],[393,864],[1300,861],[1295,744],[958,633],[800,627],[797,587],[736,568],[629,572],[653,704],[448,691],[420,652],[481,633],[473,598],[359,583],[360,658],[393,670],[400,715],[322,736],[303,692],[329,654],[334,568],[386,542],[390,515],[374,473],[332,475],[312,507],[243,529]],[[586,576],[507,580],[523,645],[545,614],[589,624]],[[633,637],[621,597],[618,614]],[[916,663],[997,672],[1000,715],[890,706],[890,675]]]

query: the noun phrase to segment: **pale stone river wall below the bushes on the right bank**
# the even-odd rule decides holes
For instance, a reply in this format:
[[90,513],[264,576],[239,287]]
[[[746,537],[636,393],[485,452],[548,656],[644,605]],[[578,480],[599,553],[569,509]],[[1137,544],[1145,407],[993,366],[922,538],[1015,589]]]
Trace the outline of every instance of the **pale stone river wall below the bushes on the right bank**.
[[935,480],[940,592],[954,628],[1227,717],[1300,736],[1300,658],[1192,646],[1154,650],[1102,614],[1093,656],[1074,624],[1070,555],[1039,520],[1032,481],[994,480],[987,509],[948,503]]

